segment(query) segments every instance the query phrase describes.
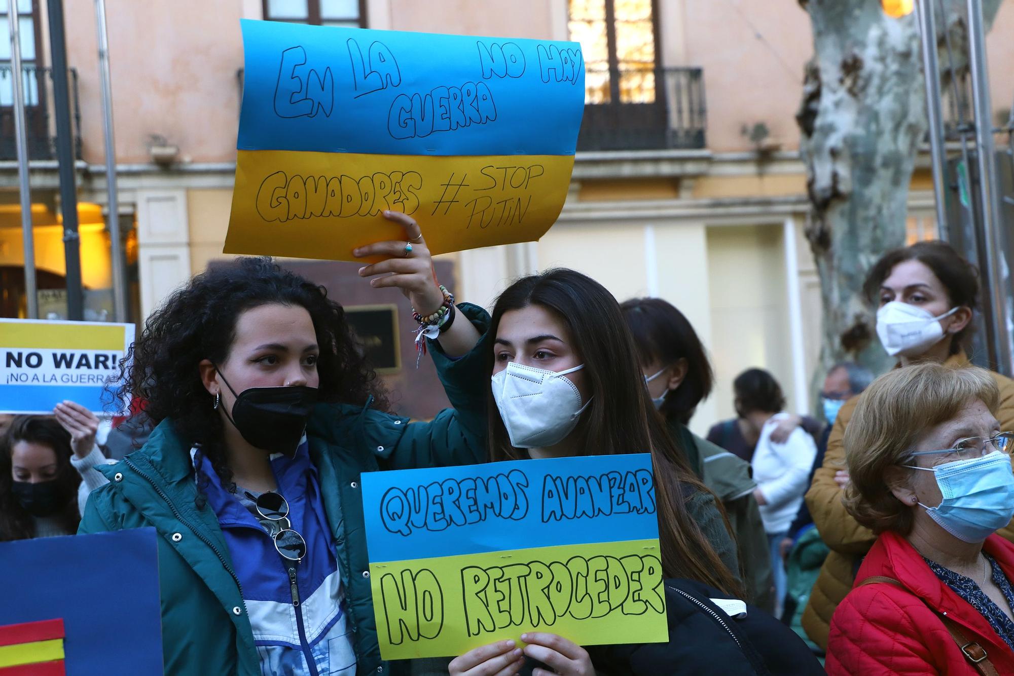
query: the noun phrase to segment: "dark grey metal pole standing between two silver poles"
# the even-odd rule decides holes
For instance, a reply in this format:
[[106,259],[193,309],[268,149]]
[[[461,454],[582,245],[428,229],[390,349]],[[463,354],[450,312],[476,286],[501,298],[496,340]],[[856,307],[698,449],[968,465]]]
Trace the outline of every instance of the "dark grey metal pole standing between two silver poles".
[[84,318],[81,292],[81,242],[77,233],[77,179],[74,171],[74,130],[70,119],[70,83],[67,68],[67,37],[63,0],[48,0],[50,50],[53,62],[53,106],[57,128],[57,159],[60,164],[60,211],[64,225],[64,257],[67,260],[67,318]]

